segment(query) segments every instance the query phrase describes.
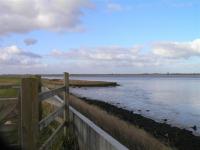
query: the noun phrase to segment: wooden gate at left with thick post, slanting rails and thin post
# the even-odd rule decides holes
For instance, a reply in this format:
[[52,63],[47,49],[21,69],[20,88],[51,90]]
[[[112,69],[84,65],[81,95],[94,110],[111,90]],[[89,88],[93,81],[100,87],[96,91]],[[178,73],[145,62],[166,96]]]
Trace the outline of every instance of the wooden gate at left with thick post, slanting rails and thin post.
[[[69,74],[64,73],[64,85],[62,87],[41,92],[41,77],[32,76],[25,77],[21,80],[21,85],[0,85],[0,89],[16,89],[18,97],[0,98],[0,133],[8,133],[11,129],[17,130],[17,139],[13,146],[19,146],[22,149],[37,150],[48,149],[48,147],[56,139],[56,135],[63,131],[66,135],[66,122],[68,122],[69,114]],[[42,118],[42,101],[51,98],[59,93],[64,93],[64,100],[61,107]],[[5,109],[4,103],[9,103]],[[10,105],[12,103],[12,105]],[[13,116],[17,121],[13,123],[9,120],[9,115],[15,111]],[[63,114],[62,122],[57,129],[42,143],[39,143],[39,133],[55,120],[60,114]],[[2,134],[1,134],[2,135]]]

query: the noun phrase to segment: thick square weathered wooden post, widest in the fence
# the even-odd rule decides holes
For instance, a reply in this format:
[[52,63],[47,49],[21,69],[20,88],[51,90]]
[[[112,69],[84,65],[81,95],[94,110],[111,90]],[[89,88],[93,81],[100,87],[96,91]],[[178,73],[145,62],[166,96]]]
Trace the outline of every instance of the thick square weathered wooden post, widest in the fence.
[[21,83],[22,148],[37,150],[38,129],[38,79],[23,78]]

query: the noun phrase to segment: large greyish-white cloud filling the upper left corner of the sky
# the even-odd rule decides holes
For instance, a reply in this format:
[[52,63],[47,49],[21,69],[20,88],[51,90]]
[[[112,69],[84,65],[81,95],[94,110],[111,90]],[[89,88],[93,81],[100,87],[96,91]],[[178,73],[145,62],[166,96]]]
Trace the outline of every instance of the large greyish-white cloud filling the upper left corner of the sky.
[[81,31],[82,8],[89,0],[1,0],[0,35],[37,29]]

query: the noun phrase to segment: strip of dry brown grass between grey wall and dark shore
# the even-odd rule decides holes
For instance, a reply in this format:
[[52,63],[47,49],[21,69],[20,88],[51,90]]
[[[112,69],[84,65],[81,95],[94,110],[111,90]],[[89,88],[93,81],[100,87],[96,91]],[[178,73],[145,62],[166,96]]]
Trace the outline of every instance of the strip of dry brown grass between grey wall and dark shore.
[[169,150],[168,146],[142,129],[108,114],[96,106],[91,106],[75,96],[70,96],[70,104],[110,133],[118,141],[134,150]]

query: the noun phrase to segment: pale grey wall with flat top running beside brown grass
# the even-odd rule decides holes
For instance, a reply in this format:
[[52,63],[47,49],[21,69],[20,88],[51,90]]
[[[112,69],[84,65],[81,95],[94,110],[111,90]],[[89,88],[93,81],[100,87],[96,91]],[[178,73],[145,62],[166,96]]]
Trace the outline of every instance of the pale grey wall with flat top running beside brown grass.
[[128,150],[124,145],[70,107],[70,119],[81,150]]

